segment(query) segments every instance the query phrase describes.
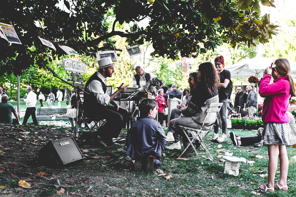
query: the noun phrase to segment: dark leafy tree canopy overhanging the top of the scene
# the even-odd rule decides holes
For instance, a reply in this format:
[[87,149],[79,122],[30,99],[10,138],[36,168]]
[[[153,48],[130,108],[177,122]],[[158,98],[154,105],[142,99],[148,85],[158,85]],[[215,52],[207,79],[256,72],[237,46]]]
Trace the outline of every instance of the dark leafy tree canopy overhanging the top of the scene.
[[[269,16],[261,16],[259,4],[274,6],[274,0],[8,0],[1,4],[0,22],[12,23],[22,45],[0,39],[0,74],[22,74],[31,65],[40,68],[64,52],[67,45],[80,54],[112,48],[115,35],[129,45],[152,43],[152,56],[178,59],[197,57],[217,45],[244,42],[266,43],[276,34]],[[60,4],[61,5],[61,4]],[[115,20],[108,28],[109,13]],[[146,27],[139,23],[149,19]],[[115,24],[129,23],[118,31]],[[57,48],[42,45],[38,36]],[[104,47],[99,48],[99,44]]]

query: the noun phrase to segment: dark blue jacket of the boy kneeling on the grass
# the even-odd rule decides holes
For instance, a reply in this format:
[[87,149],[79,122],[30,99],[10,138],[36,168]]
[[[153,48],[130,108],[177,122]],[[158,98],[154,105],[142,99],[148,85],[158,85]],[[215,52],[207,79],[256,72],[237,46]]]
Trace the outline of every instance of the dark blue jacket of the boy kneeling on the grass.
[[165,144],[166,138],[163,128],[151,116],[147,115],[133,123],[128,131],[126,154],[139,160],[149,155],[160,159]]

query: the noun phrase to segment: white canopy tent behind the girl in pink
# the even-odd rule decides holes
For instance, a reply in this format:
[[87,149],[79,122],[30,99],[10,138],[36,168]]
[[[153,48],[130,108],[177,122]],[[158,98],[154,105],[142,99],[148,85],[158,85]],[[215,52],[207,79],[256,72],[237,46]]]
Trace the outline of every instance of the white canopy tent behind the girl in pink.
[[[259,80],[263,76],[263,71],[276,58],[255,57],[235,63],[225,67],[231,73],[231,78],[249,78],[256,76]],[[296,62],[290,61],[291,75],[296,78]]]

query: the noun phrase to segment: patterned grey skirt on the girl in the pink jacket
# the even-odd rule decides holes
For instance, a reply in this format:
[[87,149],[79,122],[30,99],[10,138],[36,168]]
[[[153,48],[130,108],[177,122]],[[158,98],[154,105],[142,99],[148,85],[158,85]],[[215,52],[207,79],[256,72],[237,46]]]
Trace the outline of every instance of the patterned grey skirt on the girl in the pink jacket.
[[295,138],[289,123],[267,123],[262,136],[265,145],[289,145]]

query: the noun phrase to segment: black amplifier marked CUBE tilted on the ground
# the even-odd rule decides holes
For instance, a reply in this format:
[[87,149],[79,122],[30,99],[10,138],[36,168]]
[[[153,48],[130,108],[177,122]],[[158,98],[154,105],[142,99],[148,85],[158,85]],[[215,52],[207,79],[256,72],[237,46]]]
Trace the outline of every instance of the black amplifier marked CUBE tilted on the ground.
[[73,137],[49,141],[39,150],[38,161],[44,165],[62,167],[83,160]]

